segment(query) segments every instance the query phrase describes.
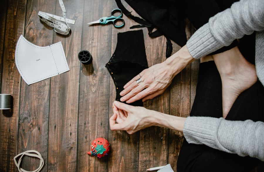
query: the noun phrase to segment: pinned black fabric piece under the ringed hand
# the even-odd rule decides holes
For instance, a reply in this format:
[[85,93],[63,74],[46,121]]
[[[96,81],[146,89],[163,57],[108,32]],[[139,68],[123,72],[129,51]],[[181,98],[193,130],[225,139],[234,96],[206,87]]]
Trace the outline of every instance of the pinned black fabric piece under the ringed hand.
[[[109,62],[106,63],[106,68],[116,86],[116,101],[120,102],[122,97],[120,92],[124,90],[124,85],[142,70],[148,68],[142,30],[117,34],[116,49]],[[143,102],[138,100],[130,105],[143,106]]]

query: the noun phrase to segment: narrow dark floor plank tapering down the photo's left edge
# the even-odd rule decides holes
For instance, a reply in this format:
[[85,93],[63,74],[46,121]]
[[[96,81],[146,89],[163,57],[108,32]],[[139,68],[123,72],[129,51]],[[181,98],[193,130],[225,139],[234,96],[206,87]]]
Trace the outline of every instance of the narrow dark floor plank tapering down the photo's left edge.
[[[6,17],[7,17],[7,3],[8,0],[3,0],[0,6],[0,93],[2,86],[2,70],[3,70],[3,57],[4,57],[4,41],[6,31]],[[0,126],[1,127],[1,126]]]

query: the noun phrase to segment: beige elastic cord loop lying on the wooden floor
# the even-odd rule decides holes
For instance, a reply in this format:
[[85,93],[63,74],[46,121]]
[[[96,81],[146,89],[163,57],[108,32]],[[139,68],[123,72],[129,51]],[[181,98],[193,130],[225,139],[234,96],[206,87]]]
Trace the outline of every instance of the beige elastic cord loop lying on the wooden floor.
[[[35,153],[35,154],[31,154],[31,153]],[[34,156],[34,157],[39,158],[40,159],[39,167],[36,170],[34,170],[34,171],[26,171],[23,168],[20,168],[20,164],[21,164],[21,161],[22,161],[22,158],[23,158],[24,155]],[[17,162],[16,158],[18,156],[20,156],[20,158],[19,158],[19,160]],[[26,152],[18,154],[17,156],[14,157],[14,161],[15,161],[16,167],[18,168],[19,172],[39,172],[44,166],[44,159],[42,158],[41,154],[38,151],[35,151],[35,150],[29,150],[29,151],[26,151]]]

